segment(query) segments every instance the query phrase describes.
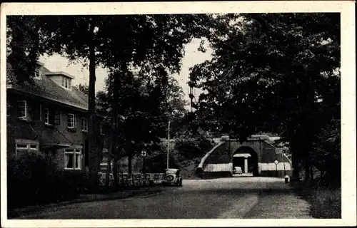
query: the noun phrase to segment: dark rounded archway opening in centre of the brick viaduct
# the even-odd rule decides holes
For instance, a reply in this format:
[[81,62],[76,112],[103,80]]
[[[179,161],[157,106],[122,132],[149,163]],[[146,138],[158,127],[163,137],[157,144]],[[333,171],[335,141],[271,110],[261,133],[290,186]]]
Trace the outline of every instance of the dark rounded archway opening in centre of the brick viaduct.
[[[245,155],[245,157],[237,156],[239,154]],[[232,163],[233,167],[240,166],[242,167],[243,172],[245,171],[245,162],[248,162],[248,172],[253,172],[253,177],[257,177],[259,175],[258,170],[258,153],[250,146],[240,146],[238,147],[232,155]],[[245,161],[246,160],[246,161]]]

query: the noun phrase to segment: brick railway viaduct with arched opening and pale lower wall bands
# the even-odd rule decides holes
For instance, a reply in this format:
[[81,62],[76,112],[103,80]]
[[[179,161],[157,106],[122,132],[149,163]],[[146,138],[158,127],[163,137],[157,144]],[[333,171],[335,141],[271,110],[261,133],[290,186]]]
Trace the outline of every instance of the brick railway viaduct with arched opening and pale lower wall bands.
[[205,178],[227,177],[237,166],[243,173],[251,173],[255,177],[291,175],[291,160],[280,148],[271,145],[267,135],[252,136],[243,143],[222,137],[218,145],[202,157],[196,173]]

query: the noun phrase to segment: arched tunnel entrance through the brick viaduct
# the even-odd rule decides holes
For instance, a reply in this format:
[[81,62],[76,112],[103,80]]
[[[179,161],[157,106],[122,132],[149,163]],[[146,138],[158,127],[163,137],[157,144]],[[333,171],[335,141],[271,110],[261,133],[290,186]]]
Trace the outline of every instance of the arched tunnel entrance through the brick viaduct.
[[233,153],[232,162],[233,173],[235,167],[241,167],[242,174],[251,174],[253,177],[257,177],[259,175],[258,155],[251,147],[239,147],[238,150]]

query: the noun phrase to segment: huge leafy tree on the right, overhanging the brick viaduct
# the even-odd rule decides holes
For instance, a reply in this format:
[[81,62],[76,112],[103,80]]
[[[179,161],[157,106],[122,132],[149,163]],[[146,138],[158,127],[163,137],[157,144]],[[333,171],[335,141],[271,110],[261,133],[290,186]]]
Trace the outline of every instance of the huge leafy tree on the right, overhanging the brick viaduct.
[[257,130],[280,133],[298,179],[315,135],[339,118],[339,15],[229,14],[210,24],[213,58],[191,71],[191,86],[205,91],[196,116],[241,140]]

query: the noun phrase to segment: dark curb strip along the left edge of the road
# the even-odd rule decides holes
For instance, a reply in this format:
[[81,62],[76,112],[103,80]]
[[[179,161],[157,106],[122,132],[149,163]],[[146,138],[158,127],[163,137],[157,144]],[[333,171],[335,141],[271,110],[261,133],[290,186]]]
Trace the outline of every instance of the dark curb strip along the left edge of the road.
[[151,195],[154,193],[162,192],[162,190],[132,190],[131,192],[126,192],[127,194],[124,195],[103,195],[103,197],[93,198],[93,199],[72,199],[64,202],[58,203],[51,203],[51,204],[42,204],[36,206],[29,206],[26,208],[17,208],[17,209],[8,209],[7,218],[8,219],[16,219],[16,217],[21,217],[26,214],[32,214],[34,212],[41,212],[46,208],[51,207],[61,207],[66,206],[68,204],[77,204],[77,203],[84,203],[84,202],[98,202],[98,201],[109,201],[114,199],[128,199],[130,197],[138,196],[138,195]]

